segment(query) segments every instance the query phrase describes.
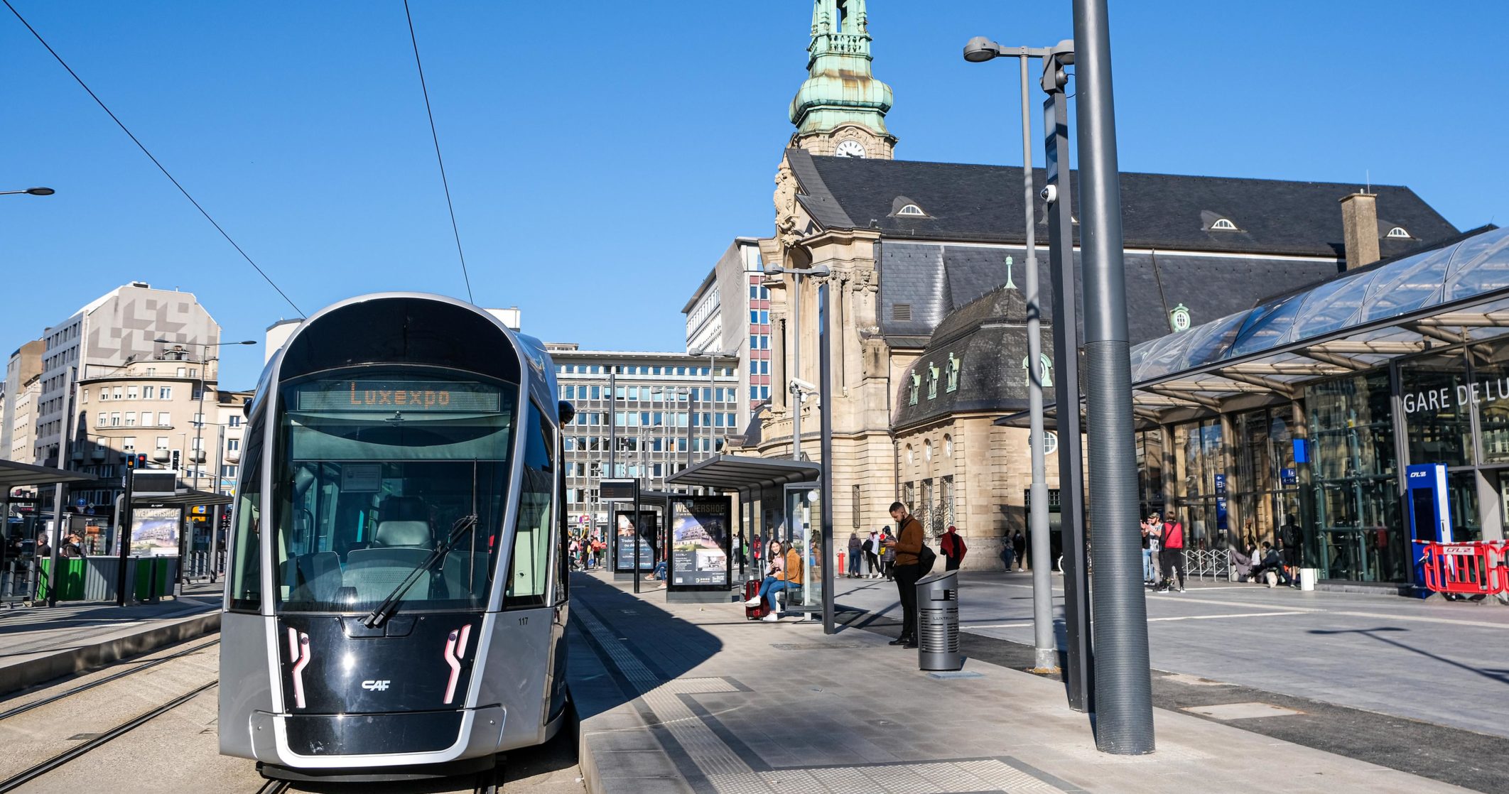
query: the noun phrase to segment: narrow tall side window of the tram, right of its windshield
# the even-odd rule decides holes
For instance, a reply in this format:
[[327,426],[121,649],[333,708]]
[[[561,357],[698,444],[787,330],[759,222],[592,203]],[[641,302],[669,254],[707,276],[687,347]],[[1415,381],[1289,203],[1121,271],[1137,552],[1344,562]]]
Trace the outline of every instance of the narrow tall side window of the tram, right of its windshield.
[[519,521],[509,555],[509,586],[504,607],[543,607],[551,571],[551,498],[555,492],[555,451],[549,423],[533,403],[519,482]]

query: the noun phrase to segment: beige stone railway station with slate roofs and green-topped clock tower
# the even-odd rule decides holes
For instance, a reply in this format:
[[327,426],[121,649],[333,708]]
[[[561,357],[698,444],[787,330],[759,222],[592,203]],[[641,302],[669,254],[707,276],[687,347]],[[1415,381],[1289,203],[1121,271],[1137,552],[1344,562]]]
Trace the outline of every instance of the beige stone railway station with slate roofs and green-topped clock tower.
[[[792,100],[794,133],[776,172],[774,229],[758,239],[770,399],[730,451],[816,459],[816,400],[794,402],[785,385],[818,382],[819,279],[768,270],[827,269],[836,537],[889,524],[886,509],[901,500],[930,534],[958,527],[972,549],[966,568],[999,568],[1005,539],[1026,528],[1028,432],[996,424],[1026,409],[1022,169],[896,160],[892,92],[872,77],[869,47],[865,3],[815,0],[809,77]],[[1035,184],[1044,178],[1038,171]],[[1185,338],[1461,234],[1403,186],[1121,174],[1121,199],[1133,344]],[[1052,356],[1047,217],[1034,204]],[[1206,408],[1176,397],[1157,400]],[[1056,457],[1047,463],[1052,494]],[[1197,488],[1168,501],[1203,498]],[[756,525],[780,521],[782,504],[767,501]]]

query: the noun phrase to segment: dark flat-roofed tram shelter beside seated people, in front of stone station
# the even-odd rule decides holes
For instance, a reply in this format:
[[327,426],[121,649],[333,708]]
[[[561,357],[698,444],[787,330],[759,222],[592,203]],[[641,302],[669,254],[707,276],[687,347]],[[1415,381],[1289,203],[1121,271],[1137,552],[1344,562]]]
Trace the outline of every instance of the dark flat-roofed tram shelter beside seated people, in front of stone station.
[[[773,539],[783,545],[795,542],[806,568],[800,595],[788,595],[786,610],[810,616],[822,611],[822,587],[827,584],[822,572],[831,568],[812,565],[831,560],[831,554],[821,551],[824,545],[831,548],[831,537],[821,537],[821,472],[822,466],[807,460],[714,454],[665,477],[665,483],[736,494],[739,536],[750,543],[751,555],[756,537],[761,548],[768,548]],[[759,577],[759,562],[748,560],[747,571]]]

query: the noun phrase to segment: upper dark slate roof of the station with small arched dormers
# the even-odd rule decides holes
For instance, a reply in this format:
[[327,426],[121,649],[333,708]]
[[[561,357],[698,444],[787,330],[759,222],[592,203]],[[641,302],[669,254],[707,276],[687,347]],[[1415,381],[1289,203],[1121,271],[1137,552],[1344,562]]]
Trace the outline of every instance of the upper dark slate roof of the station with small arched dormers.
[[[801,186],[801,204],[824,228],[878,228],[892,240],[1025,242],[1020,166],[813,157],[806,149],[788,149],[786,158]],[[1043,169],[1035,171],[1037,186],[1046,184],[1046,178]],[[1071,172],[1074,195],[1076,180],[1077,172]],[[1340,258],[1340,199],[1358,189],[1338,183],[1121,174],[1123,237],[1126,248]],[[1458,234],[1408,187],[1372,186],[1372,190],[1378,195],[1379,232],[1403,226],[1412,237],[1381,239],[1384,258]],[[916,202],[927,217],[895,214],[898,196]],[[1219,217],[1239,231],[1212,231]],[[1041,207],[1038,229],[1047,229]]]

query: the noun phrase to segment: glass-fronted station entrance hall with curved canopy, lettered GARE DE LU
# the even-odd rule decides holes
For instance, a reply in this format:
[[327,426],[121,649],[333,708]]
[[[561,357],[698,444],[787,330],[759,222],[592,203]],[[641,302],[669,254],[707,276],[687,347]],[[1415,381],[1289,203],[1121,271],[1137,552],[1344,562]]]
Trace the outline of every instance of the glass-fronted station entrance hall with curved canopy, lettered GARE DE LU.
[[[1322,583],[1418,592],[1415,540],[1504,537],[1509,229],[1346,270],[1130,358],[1141,498],[1174,510],[1192,548],[1283,542]],[[1444,525],[1424,515],[1420,471],[1441,483]]]

